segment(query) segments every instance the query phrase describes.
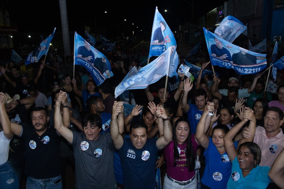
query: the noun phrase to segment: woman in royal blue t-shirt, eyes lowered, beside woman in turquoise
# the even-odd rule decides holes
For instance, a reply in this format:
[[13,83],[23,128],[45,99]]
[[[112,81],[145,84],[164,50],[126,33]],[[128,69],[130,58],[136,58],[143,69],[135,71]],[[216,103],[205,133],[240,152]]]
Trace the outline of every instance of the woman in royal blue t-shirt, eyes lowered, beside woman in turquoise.
[[[231,176],[232,163],[224,148],[223,137],[229,128],[224,124],[218,124],[213,128],[212,138],[206,136],[205,133],[211,121],[210,112],[217,113],[217,110],[214,111],[213,102],[207,103],[197,124],[195,135],[199,144],[205,148],[205,169],[201,178],[201,186],[206,189],[226,189]],[[235,149],[237,144],[234,142]]]

